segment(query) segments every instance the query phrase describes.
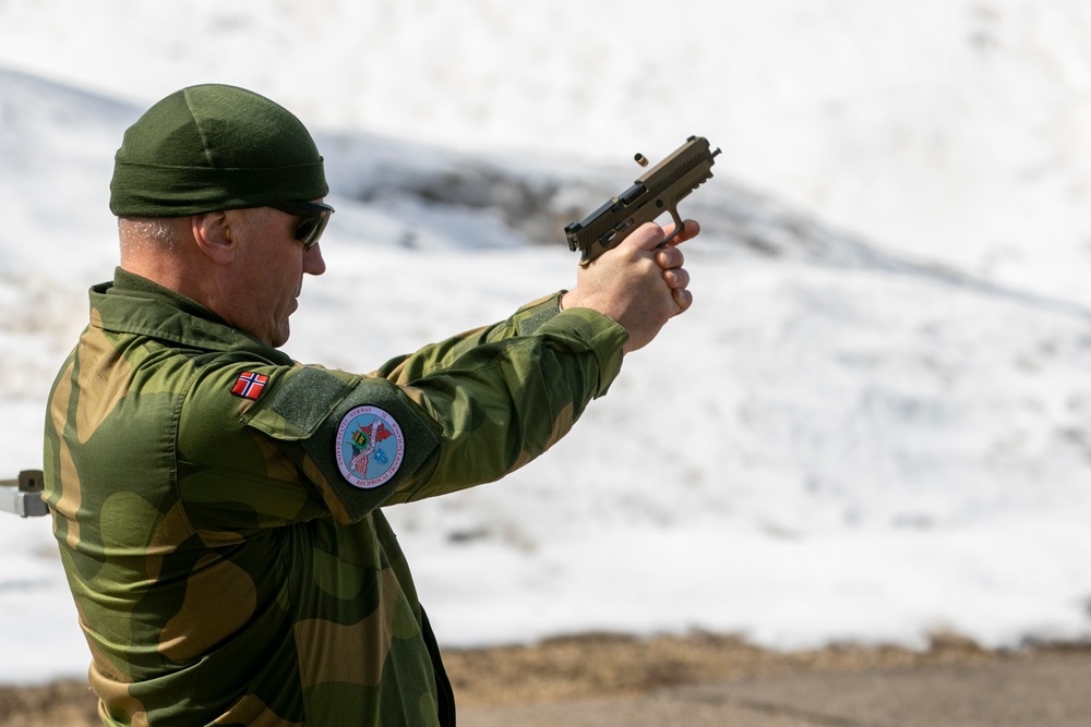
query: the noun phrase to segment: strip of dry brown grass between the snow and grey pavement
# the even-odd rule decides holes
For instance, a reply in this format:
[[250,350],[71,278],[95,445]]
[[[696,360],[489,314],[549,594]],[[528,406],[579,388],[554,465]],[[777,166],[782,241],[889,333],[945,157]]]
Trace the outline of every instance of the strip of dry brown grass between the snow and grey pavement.
[[[449,651],[444,662],[458,704],[481,707],[632,695],[731,679],[1035,659],[1074,650],[1091,653],[1089,645],[985,651],[957,637],[938,637],[927,651],[847,645],[784,653],[707,633],[652,639],[603,633],[535,645]],[[87,684],[73,680],[0,687],[0,727],[44,724],[100,724]]]

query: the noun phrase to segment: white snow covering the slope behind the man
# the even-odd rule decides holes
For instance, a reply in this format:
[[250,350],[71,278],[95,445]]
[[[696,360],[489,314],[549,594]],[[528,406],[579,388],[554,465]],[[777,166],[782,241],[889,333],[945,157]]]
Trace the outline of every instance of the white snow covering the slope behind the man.
[[[389,509],[441,641],[1087,639],[1089,39],[1075,0],[0,1],[0,476],[178,87],[314,131],[338,211],[286,350],[358,371],[570,286],[563,225],[697,133],[694,308],[542,459]],[[82,675],[48,522],[0,549],[0,681]]]

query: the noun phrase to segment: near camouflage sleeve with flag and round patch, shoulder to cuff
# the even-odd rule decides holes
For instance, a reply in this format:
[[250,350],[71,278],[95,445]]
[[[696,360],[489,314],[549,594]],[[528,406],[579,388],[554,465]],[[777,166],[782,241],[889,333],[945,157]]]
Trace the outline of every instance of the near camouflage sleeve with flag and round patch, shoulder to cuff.
[[[350,522],[529,462],[606,391],[626,338],[606,316],[549,306],[425,347],[389,378],[209,367],[191,390],[179,437],[188,514],[209,531],[326,512]],[[264,377],[252,400],[230,393],[247,376]]]

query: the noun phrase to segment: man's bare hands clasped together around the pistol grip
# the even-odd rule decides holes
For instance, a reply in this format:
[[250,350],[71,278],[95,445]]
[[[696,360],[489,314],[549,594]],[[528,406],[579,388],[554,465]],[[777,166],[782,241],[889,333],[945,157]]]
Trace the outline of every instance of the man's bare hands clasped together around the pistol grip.
[[628,331],[625,353],[647,346],[671,317],[693,303],[686,289],[690,274],[676,245],[695,238],[700,227],[686,220],[682,232],[660,247],[671,230],[672,226],[664,230],[655,222],[643,225],[580,267],[576,287],[561,299],[561,307],[591,308],[616,320]]

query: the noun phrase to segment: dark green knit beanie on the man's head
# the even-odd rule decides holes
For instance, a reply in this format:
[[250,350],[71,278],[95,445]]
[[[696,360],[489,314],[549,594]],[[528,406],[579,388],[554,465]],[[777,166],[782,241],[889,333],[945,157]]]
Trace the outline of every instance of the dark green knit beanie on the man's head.
[[235,86],[167,96],[125,131],[113,159],[110,210],[118,217],[185,217],[329,192],[302,122]]

